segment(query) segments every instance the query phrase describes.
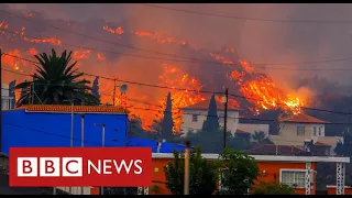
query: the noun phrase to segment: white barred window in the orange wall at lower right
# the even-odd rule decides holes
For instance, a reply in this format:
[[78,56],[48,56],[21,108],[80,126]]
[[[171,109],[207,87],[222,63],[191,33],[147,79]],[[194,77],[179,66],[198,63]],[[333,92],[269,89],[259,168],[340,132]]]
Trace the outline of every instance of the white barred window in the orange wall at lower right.
[[296,188],[305,188],[306,170],[282,170],[280,183]]

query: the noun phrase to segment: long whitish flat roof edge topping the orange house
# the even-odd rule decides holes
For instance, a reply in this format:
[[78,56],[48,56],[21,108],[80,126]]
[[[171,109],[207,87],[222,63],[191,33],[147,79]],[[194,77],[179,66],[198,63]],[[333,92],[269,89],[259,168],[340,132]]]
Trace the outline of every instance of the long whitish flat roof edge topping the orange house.
[[[283,156],[283,155],[249,155],[258,162],[326,162],[326,163],[350,163],[350,157],[330,157],[330,156]],[[153,153],[153,158],[174,158],[173,153]],[[207,160],[217,160],[219,154],[205,153],[202,157]]]

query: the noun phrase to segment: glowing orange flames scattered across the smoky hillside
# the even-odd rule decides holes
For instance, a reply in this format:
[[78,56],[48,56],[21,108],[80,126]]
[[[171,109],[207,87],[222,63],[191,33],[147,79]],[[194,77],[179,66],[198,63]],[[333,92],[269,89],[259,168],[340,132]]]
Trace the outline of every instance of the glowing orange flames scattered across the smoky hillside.
[[[28,14],[28,18],[33,18],[34,14]],[[70,25],[70,24],[68,24]],[[8,41],[12,41],[14,38],[22,38],[25,42],[30,42],[33,44],[41,44],[41,43],[50,43],[52,45],[61,46],[63,43],[61,40],[56,37],[43,37],[43,38],[29,38],[25,35],[25,28],[23,26],[21,31],[16,31],[14,34],[6,34],[6,30],[9,29],[9,24],[7,24],[4,21],[0,23],[0,35],[1,37],[4,37]],[[102,30],[111,33],[111,34],[118,34],[119,36],[122,34],[125,34],[125,31],[118,26],[116,29],[109,28],[108,25],[102,26]],[[140,36],[140,37],[147,37],[153,41],[156,41],[160,44],[166,44],[166,43],[173,43],[177,45],[186,45],[188,42],[184,40],[178,40],[175,37],[172,37],[166,34],[166,32],[144,32],[144,31],[132,31],[130,32],[133,35]],[[7,52],[10,55],[13,56],[21,56],[21,52],[19,50],[13,50],[10,52]],[[223,51],[226,54],[233,54],[235,53],[234,48],[228,47]],[[31,47],[26,51],[26,54],[33,56],[38,54],[37,50],[34,47]],[[89,58],[91,54],[91,51],[74,51],[74,58],[76,59],[86,59]],[[254,112],[255,114],[258,114],[261,110],[263,109],[277,109],[282,108],[285,111],[292,112],[292,113],[299,113],[301,112],[301,106],[302,102],[299,100],[299,98],[294,97],[294,95],[285,95],[277,86],[276,84],[266,75],[264,74],[255,74],[255,68],[251,66],[250,63],[240,59],[240,61],[232,61],[230,58],[227,58],[224,56],[221,56],[217,53],[209,53],[209,56],[212,57],[215,61],[222,63],[223,65],[235,65],[239,64],[242,69],[234,69],[231,73],[227,74],[227,78],[234,81],[237,86],[240,87],[241,94],[251,102],[254,105],[254,108],[251,108],[250,110]],[[97,58],[100,61],[107,59],[106,56],[103,56],[100,53],[97,53]],[[22,63],[21,59],[11,57],[11,56],[3,56],[3,64],[11,66],[14,70],[21,70],[23,66],[25,66],[25,63]],[[79,62],[77,65],[79,65],[81,62]],[[158,76],[160,85],[161,86],[167,86],[172,89],[169,90],[172,92],[172,101],[173,101],[173,119],[174,119],[174,132],[178,132],[180,129],[182,123],[182,108],[195,105],[197,102],[204,101],[205,96],[201,95],[199,91],[202,88],[202,85],[198,81],[198,79],[194,76],[190,76],[189,74],[185,73],[180,69],[180,67],[168,65],[166,63],[162,64],[161,67],[163,68],[163,73]],[[108,88],[111,88],[111,81],[101,81],[101,87],[106,87],[103,91],[108,90]],[[185,90],[176,90],[175,88],[182,88]],[[189,90],[197,90],[197,91],[189,91]],[[152,125],[154,123],[154,120],[160,122],[163,119],[164,110],[166,107],[166,92],[164,96],[158,97],[157,100],[152,100],[147,95],[138,96],[138,98],[141,100],[140,102],[134,102],[132,98],[128,95],[121,95],[116,97],[116,105],[121,105],[127,107],[131,114],[138,114],[142,120],[142,128],[144,130],[152,130]],[[221,101],[221,97],[216,97],[218,101]],[[102,97],[102,100],[110,101],[111,97]],[[153,109],[156,110],[156,117],[154,113],[150,113],[148,111],[144,110],[138,110],[133,109],[134,106],[138,103],[143,103],[144,109]],[[240,105],[234,99],[229,99],[229,106],[239,108]],[[156,119],[155,119],[156,118]]]

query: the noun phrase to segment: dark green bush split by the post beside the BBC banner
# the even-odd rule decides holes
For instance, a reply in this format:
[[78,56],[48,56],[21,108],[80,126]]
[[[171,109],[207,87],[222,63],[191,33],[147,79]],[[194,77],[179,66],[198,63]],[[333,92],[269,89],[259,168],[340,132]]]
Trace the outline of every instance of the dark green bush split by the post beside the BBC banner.
[[[217,163],[207,162],[200,147],[189,154],[189,195],[211,195],[217,188]],[[174,195],[184,194],[185,155],[174,151],[174,161],[164,167],[166,187]]]

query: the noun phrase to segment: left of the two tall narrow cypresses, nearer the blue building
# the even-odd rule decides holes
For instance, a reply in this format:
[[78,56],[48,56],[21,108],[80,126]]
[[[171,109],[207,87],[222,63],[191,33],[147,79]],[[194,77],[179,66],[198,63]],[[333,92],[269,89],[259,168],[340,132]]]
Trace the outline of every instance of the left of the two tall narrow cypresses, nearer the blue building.
[[172,110],[173,110],[172,94],[168,92],[166,98],[166,108],[164,111],[164,118],[162,122],[162,133],[161,133],[162,139],[166,139],[166,140],[173,139],[174,120],[173,120]]

